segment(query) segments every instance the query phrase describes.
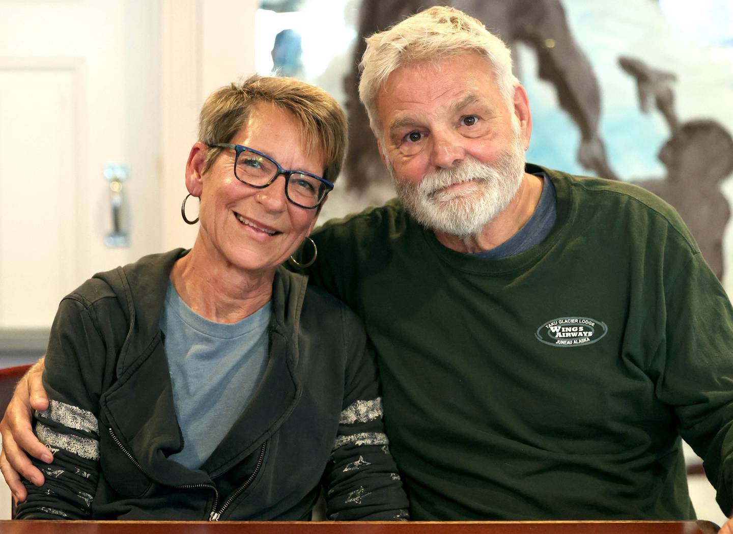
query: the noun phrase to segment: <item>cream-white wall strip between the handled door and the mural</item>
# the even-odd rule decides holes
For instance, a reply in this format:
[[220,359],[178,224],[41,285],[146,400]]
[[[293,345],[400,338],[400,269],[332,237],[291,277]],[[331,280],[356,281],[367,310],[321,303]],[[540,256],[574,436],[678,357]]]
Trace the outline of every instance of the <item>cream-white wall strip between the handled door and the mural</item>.
[[[161,159],[163,250],[194,244],[180,216],[184,169],[199,109],[222,85],[254,74],[256,0],[163,0]],[[226,23],[223,23],[226,21]]]

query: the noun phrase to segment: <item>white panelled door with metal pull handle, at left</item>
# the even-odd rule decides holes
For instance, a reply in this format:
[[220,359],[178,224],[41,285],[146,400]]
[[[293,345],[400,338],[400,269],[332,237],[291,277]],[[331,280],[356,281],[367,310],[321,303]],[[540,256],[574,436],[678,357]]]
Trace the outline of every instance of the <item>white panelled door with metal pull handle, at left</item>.
[[[95,272],[161,249],[159,10],[0,0],[0,344],[2,332],[48,329]],[[129,168],[122,197],[110,164]],[[129,241],[114,248],[120,198]]]

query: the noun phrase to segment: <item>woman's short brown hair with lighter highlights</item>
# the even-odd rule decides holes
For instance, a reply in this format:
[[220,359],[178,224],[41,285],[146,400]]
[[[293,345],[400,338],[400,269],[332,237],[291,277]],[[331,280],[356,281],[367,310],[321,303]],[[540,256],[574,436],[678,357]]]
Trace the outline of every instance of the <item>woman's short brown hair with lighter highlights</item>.
[[[228,143],[245,125],[251,107],[271,103],[290,111],[301,122],[306,150],[322,150],[323,178],[333,182],[341,172],[347,143],[344,111],[334,98],[320,87],[295,78],[250,76],[241,84],[216,89],[206,99],[199,115],[199,141],[205,145]],[[221,152],[209,149],[206,172]]]

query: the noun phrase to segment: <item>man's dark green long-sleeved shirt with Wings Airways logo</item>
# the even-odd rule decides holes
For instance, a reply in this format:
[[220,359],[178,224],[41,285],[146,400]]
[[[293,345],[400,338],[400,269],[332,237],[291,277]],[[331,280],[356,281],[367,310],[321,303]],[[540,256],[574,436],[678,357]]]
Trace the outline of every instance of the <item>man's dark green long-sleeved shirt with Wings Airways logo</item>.
[[312,236],[377,348],[412,518],[690,519],[679,436],[729,513],[726,293],[658,197],[542,170],[557,222],[512,257],[446,249],[396,200]]

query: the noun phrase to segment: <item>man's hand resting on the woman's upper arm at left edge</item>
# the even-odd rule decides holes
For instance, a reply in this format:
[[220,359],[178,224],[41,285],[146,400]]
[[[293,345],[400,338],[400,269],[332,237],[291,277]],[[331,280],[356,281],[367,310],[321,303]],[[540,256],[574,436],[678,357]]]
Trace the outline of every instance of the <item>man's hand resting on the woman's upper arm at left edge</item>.
[[44,480],[43,473],[34,467],[26,452],[47,464],[54,461],[51,451],[38,441],[31,426],[32,410],[42,411],[48,408],[48,395],[43,389],[42,381],[44,368],[45,359],[42,358],[21,378],[0,421],[0,472],[18,502],[23,502],[28,497],[28,492],[21,483],[21,476],[31,480],[36,486],[42,486]]

